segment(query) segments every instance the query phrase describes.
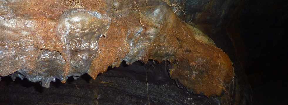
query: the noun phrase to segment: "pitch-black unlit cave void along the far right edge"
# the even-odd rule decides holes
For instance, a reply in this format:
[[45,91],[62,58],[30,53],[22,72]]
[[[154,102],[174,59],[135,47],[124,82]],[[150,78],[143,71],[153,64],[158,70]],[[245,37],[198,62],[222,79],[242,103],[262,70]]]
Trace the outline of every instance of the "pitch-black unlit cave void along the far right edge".
[[[240,19],[254,104],[287,105],[288,2],[249,1]],[[283,97],[284,96],[284,97]]]

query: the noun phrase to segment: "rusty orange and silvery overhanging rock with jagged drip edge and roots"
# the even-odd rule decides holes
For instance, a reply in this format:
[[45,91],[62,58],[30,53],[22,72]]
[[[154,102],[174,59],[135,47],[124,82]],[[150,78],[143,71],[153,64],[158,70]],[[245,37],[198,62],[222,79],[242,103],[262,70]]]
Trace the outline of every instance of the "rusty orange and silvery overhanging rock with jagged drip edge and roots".
[[134,0],[83,0],[82,8],[53,0],[0,4],[1,76],[48,88],[56,78],[95,79],[123,60],[169,60],[173,79],[207,96],[221,95],[234,76],[227,54],[162,1],[136,1],[138,8]]

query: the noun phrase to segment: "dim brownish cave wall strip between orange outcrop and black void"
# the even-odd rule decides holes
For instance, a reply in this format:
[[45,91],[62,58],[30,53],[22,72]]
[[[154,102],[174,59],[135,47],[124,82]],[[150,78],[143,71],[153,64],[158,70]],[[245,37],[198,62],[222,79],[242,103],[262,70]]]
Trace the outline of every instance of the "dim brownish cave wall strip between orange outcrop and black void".
[[[239,26],[244,7],[245,1],[241,0],[190,0],[185,5],[186,22],[212,38],[234,64],[235,80],[230,89],[232,104],[252,103],[252,91],[245,73],[247,51]],[[230,104],[224,97],[222,103]]]

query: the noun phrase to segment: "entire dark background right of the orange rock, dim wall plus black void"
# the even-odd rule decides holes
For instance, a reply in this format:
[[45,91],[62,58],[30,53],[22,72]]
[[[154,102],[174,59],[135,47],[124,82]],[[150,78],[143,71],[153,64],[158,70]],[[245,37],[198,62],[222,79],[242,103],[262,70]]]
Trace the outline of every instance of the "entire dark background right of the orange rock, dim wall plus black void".
[[197,26],[229,55],[237,78],[242,79],[239,84],[246,85],[242,91],[253,91],[253,104],[287,104],[274,96],[286,93],[283,90],[287,88],[287,6],[284,0],[186,2],[186,22]]

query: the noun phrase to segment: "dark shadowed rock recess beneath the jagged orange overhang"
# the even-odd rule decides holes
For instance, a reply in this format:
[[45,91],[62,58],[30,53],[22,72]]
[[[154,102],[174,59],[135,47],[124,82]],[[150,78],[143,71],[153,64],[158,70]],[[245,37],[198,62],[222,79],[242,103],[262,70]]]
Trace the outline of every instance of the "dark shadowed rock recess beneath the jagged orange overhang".
[[[51,87],[41,87],[40,82],[3,77],[0,82],[0,104],[99,104],[99,105],[214,105],[220,104],[217,97],[195,95],[177,81],[171,79],[168,61],[158,63],[150,60],[120,67],[108,67],[93,80],[88,74],[77,80],[69,77],[65,84],[60,80],[51,82]],[[146,74],[147,73],[147,74]],[[147,93],[148,90],[148,93]],[[149,99],[148,99],[149,97]]]

